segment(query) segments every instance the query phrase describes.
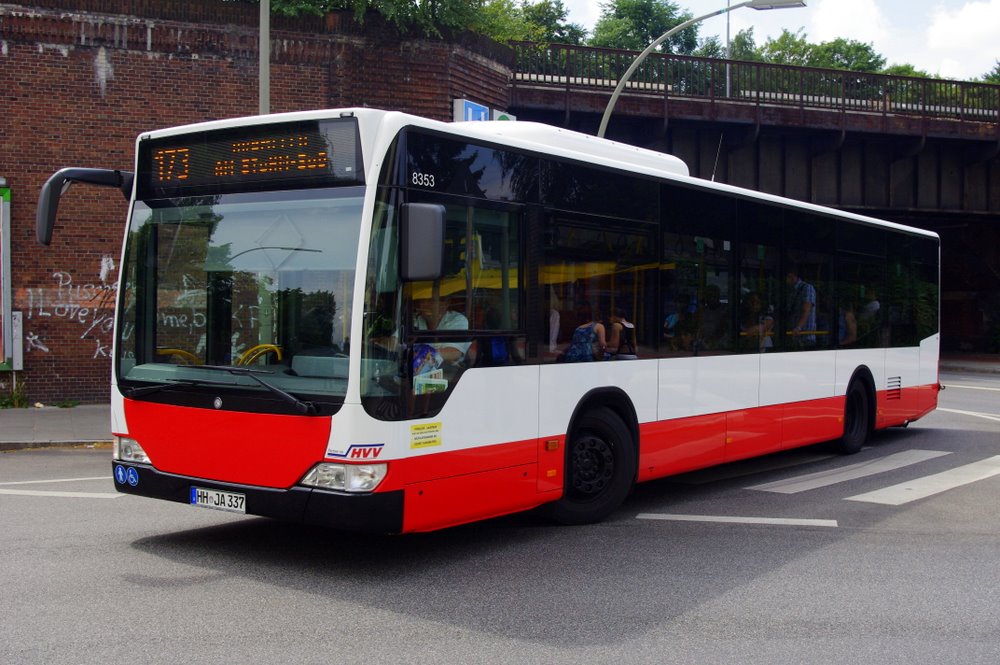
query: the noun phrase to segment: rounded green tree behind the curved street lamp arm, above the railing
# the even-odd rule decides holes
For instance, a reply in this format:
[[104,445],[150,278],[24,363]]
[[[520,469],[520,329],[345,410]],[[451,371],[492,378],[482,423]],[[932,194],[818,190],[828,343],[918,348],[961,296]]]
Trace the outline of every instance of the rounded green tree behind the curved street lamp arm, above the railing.
[[[668,30],[692,18],[670,0],[609,0],[601,7],[589,44],[642,51]],[[663,53],[693,53],[697,26],[686,28],[660,45]]]

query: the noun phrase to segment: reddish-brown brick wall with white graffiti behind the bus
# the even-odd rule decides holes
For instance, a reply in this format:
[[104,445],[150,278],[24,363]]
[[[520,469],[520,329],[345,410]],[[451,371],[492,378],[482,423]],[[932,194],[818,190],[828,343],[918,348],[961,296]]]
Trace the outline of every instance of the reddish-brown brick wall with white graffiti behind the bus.
[[[131,169],[144,130],[255,113],[256,13],[212,1],[0,4],[0,176],[12,190],[19,378],[32,401],[108,399],[127,212],[118,192],[75,186],[43,247],[39,188],[64,166]],[[276,18],[271,110],[371,106],[447,120],[455,97],[506,106],[509,62],[499,45],[401,36],[374,17]]]

